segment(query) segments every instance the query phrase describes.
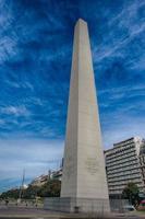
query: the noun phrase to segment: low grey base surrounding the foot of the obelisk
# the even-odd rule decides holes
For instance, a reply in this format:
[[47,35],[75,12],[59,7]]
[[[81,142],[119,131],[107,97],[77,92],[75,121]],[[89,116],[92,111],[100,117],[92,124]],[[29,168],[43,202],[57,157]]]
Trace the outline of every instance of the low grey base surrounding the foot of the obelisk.
[[45,198],[44,208],[63,212],[97,212],[110,211],[108,199],[55,197]]

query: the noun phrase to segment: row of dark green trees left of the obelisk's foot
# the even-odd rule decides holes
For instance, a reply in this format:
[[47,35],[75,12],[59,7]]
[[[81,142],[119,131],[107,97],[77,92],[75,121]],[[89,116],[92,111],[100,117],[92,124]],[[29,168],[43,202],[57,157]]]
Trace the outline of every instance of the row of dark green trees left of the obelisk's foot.
[[[22,198],[29,199],[35,198],[36,196],[39,197],[59,197],[61,189],[61,182],[59,180],[49,180],[43,186],[33,186],[29,185],[26,189],[22,193]],[[20,195],[20,189],[11,189],[4,192],[0,195],[0,198],[15,198],[17,199]]]

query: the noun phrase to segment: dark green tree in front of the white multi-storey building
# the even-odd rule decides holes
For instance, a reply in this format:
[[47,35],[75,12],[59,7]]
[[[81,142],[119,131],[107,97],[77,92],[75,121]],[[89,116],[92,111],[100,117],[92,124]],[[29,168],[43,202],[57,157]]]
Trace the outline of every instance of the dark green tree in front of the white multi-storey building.
[[128,183],[122,192],[122,196],[123,198],[128,198],[129,201],[135,206],[140,200],[138,193],[140,191],[135,183]]

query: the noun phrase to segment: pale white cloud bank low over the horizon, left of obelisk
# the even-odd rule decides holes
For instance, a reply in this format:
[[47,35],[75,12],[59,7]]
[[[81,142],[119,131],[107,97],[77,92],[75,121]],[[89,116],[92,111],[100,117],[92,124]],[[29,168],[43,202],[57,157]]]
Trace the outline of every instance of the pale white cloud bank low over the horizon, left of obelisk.
[[40,139],[0,140],[0,181],[20,178],[23,169],[26,177],[58,169],[63,154],[63,141]]

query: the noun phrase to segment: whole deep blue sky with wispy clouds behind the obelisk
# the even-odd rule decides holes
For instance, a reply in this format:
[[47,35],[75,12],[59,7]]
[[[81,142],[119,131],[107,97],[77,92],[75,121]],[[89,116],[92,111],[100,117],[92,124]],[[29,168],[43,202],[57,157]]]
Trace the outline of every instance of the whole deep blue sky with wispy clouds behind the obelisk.
[[63,154],[73,28],[88,23],[104,148],[145,137],[145,1],[0,0],[0,191]]

